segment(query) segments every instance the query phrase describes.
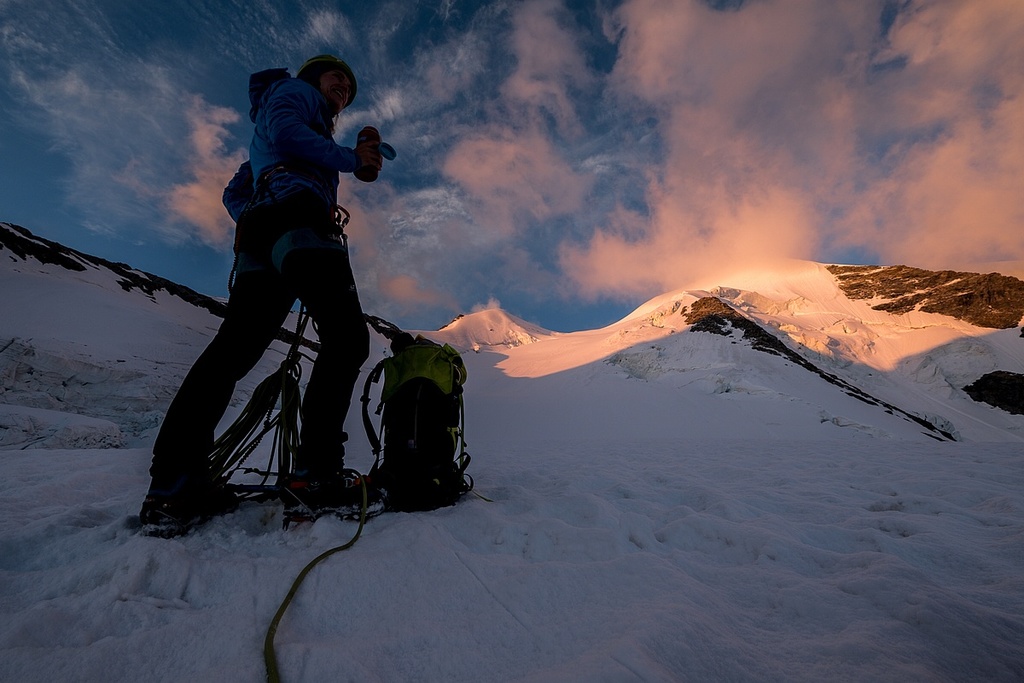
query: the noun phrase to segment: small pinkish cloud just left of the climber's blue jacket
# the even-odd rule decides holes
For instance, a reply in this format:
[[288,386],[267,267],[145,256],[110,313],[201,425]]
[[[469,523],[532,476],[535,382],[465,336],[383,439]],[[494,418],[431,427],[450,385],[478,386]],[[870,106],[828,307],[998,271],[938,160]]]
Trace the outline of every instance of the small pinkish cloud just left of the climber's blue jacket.
[[225,125],[238,122],[241,116],[233,110],[210,106],[196,96],[187,108],[186,119],[191,128],[188,135],[191,180],[171,186],[166,197],[167,208],[178,219],[198,228],[201,239],[223,246],[231,239],[233,222],[221,203],[221,195],[245,159],[241,150],[227,154]]

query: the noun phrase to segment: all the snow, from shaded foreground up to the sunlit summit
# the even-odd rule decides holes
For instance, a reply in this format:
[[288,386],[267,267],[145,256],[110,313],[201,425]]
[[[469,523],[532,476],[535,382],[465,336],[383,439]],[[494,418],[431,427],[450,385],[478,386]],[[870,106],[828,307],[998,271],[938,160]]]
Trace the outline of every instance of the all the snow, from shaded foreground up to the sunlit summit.
[[[961,390],[1015,370],[1024,342],[894,319],[791,266],[694,283],[604,330],[481,311],[428,333],[467,349],[488,500],[382,515],[317,566],[276,634],[284,680],[1024,678],[1024,417]],[[0,680],[263,680],[292,580],[355,525],[286,531],[279,506],[247,503],[181,539],[137,536],[154,427],[217,319],[3,251],[0,287]],[[693,331],[684,308],[708,294],[963,440],[736,328]],[[99,447],[112,429],[128,447]]]

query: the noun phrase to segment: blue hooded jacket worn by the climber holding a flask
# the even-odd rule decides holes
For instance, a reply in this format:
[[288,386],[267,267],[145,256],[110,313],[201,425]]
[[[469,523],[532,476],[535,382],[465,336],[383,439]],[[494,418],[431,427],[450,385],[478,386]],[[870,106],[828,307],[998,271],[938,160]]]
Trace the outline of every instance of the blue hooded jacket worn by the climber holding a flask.
[[[280,202],[311,190],[322,198],[325,215],[338,201],[338,173],[351,173],[359,160],[331,136],[331,110],[319,90],[291,78],[285,69],[258,72],[249,78],[249,118],[256,129],[249,161],[242,164],[224,188],[223,201],[236,221],[255,191],[256,180],[280,166],[261,187],[254,206]],[[289,172],[291,171],[291,172]]]

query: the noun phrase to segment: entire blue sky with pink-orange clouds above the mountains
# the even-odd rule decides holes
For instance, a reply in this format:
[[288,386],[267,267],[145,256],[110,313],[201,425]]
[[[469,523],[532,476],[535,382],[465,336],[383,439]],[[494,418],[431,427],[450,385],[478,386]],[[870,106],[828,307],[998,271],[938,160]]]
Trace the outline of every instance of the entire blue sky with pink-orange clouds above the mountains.
[[250,73],[330,52],[364,308],[555,331],[774,258],[1024,260],[1019,0],[0,0],[0,220],[213,296]]

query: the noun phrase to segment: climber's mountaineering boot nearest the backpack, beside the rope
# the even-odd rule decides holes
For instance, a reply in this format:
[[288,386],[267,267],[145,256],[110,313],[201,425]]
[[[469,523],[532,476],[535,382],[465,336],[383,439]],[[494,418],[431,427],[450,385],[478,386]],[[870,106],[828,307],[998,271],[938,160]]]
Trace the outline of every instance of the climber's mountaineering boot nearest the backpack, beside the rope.
[[292,522],[312,521],[324,515],[358,519],[362,514],[364,483],[367,492],[367,517],[384,511],[381,493],[368,477],[355,470],[312,476],[308,472],[290,475],[281,492],[285,504],[285,526]]

